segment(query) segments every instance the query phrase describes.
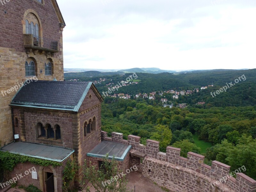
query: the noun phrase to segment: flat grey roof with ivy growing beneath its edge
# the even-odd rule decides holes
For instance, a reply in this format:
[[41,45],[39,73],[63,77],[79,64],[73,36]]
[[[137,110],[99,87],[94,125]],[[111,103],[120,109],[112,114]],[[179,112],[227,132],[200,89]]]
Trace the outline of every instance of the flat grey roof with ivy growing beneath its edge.
[[57,162],[64,161],[75,152],[68,148],[27,142],[13,142],[2,147],[1,151]]

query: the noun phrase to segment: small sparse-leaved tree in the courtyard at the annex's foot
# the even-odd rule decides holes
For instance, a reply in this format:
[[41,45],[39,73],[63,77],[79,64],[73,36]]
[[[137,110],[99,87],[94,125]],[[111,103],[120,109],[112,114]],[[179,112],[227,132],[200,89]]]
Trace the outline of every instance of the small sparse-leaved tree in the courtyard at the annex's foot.
[[[103,158],[103,164],[101,164],[99,169],[92,165],[92,162],[89,162],[89,167],[87,167],[85,161],[82,184],[89,181],[97,192],[127,192],[125,175],[119,177],[121,172],[122,170],[118,170],[118,162],[115,157],[110,161],[107,154]],[[86,188],[86,192],[91,191],[89,187]]]

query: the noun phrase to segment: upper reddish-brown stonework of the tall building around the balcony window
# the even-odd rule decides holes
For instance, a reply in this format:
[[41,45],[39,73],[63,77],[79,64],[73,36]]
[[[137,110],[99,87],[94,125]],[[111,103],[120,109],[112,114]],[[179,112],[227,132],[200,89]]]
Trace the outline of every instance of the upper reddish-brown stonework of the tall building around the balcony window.
[[[51,0],[44,0],[44,5],[35,0],[9,1],[0,6],[0,47],[13,48],[17,52],[24,52],[22,20],[27,9],[33,9],[42,22],[43,37],[60,41],[60,22],[52,6]],[[4,13],[7,11],[7,13]],[[62,44],[60,49],[62,49]],[[56,53],[61,55],[62,52]]]

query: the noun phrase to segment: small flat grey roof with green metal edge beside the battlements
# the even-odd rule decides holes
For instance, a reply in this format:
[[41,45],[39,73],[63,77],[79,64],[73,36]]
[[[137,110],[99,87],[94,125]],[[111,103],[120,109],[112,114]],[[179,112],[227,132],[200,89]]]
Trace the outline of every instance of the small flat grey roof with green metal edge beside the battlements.
[[132,149],[131,145],[124,145],[113,141],[102,141],[92,151],[87,153],[87,156],[103,158],[108,154],[109,159],[115,159],[117,161],[124,161],[124,158]]

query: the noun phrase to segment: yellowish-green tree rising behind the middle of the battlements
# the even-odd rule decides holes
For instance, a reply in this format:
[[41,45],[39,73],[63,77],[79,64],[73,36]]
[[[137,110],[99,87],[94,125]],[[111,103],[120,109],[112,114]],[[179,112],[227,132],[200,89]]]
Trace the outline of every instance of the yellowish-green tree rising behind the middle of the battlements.
[[167,126],[160,124],[156,125],[155,128],[157,131],[153,133],[150,139],[159,141],[159,147],[164,151],[172,140],[172,131]]

